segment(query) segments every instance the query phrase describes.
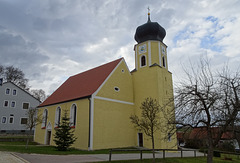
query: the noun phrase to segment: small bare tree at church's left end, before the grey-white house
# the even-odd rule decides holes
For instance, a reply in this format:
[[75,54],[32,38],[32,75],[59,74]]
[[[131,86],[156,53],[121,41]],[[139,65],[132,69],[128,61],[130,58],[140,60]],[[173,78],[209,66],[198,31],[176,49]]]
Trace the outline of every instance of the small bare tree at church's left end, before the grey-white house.
[[41,115],[38,115],[37,111],[38,111],[37,108],[29,108],[26,112],[28,121],[25,124],[25,127],[26,127],[26,129],[29,129],[26,148],[28,148],[30,134],[31,134],[32,130],[36,127],[36,125],[41,123]]

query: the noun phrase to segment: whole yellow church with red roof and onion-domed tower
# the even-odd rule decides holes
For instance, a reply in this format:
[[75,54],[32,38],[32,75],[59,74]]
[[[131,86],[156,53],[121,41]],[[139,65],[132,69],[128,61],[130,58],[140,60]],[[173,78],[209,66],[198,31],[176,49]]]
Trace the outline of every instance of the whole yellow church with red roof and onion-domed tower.
[[[35,141],[55,145],[55,131],[67,110],[77,140],[73,147],[97,150],[120,147],[151,148],[151,139],[134,128],[130,116],[140,115],[141,103],[156,99],[161,106],[173,98],[172,74],[168,71],[166,31],[157,22],[136,29],[135,69],[129,71],[124,58],[69,77],[41,105],[42,124],[35,130]],[[168,106],[174,112],[174,104]],[[160,117],[164,117],[161,113]],[[161,121],[163,126],[168,125]],[[176,148],[176,134],[160,130],[155,148]]]

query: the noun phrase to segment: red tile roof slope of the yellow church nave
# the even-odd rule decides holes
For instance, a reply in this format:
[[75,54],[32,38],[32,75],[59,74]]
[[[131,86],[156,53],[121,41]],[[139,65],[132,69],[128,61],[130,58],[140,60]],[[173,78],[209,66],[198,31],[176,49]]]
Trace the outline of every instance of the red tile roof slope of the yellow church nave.
[[69,77],[39,107],[92,95],[123,58]]

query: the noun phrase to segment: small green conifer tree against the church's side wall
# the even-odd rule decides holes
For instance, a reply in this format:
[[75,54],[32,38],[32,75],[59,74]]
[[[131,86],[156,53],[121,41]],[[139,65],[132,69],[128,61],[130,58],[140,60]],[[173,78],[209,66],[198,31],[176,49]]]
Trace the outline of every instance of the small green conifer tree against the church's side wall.
[[69,147],[76,141],[76,137],[74,136],[74,131],[70,127],[70,118],[67,116],[67,111],[65,111],[64,116],[62,117],[62,121],[58,128],[56,129],[56,133],[54,135],[53,141],[56,143],[56,148],[59,151],[66,151]]

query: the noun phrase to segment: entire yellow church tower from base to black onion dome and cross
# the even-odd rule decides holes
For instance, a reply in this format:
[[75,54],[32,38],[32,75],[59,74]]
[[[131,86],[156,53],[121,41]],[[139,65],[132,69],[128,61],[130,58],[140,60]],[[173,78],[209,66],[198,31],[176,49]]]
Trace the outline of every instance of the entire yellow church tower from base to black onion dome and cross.
[[[147,23],[137,27],[135,40],[135,69],[132,71],[134,85],[135,114],[140,115],[141,103],[147,98],[156,99],[160,106],[164,106],[169,99],[173,99],[172,73],[168,71],[167,45],[163,43],[166,36],[165,29],[157,22],[150,20],[148,13]],[[174,111],[174,104],[167,110]],[[160,117],[164,114],[161,113]],[[167,122],[162,122],[168,125]],[[165,124],[164,124],[165,123]],[[143,134],[137,131],[136,135]],[[169,133],[158,131],[156,133],[156,148],[172,148],[176,139],[168,141],[165,138]],[[151,148],[151,142],[143,134],[143,146]],[[175,137],[176,138],[176,137]]]

